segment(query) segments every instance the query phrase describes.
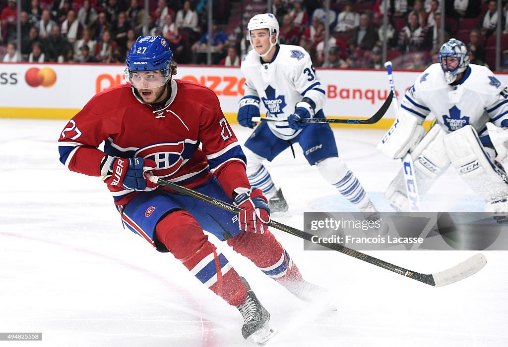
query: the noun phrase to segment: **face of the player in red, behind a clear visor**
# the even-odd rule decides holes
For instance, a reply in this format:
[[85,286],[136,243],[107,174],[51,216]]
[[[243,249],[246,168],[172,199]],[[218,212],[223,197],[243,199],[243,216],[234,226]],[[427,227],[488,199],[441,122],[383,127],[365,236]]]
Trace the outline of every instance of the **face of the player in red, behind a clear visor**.
[[161,71],[133,72],[131,81],[147,104],[161,102],[166,98],[168,89]]

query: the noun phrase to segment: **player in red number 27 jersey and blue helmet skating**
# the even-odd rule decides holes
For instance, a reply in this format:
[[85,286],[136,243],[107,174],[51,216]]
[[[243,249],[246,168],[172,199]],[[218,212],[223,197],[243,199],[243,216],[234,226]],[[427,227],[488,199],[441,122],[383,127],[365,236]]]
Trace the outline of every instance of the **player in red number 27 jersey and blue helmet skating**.
[[[270,314],[203,229],[300,299],[310,300],[309,288],[319,287],[302,279],[268,230],[267,200],[248,182],[245,156],[216,95],[174,80],[172,57],[163,37],[139,37],[126,60],[128,83],[94,96],[67,124],[59,138],[60,161],[72,171],[103,176],[123,223],[238,307],[243,337],[263,343],[273,333]],[[179,195],[156,186],[147,174],[243,210],[233,215]]]

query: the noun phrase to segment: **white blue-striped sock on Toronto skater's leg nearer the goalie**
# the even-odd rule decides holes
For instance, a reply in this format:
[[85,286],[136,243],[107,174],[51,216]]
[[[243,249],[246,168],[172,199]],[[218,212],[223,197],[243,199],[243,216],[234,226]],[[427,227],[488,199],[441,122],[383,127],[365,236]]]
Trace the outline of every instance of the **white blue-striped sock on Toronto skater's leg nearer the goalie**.
[[355,174],[338,157],[327,158],[316,164],[320,174],[358,209],[366,208],[370,199]]

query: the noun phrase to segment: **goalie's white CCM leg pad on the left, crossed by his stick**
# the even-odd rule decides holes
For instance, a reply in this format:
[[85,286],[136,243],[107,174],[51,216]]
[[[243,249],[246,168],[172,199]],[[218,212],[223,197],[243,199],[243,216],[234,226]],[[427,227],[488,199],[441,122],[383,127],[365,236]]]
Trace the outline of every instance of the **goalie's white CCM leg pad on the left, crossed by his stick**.
[[[447,132],[434,125],[411,153],[418,192],[422,198],[430,190],[435,179],[450,165],[443,139]],[[402,170],[388,186],[384,198],[399,211],[410,211]]]

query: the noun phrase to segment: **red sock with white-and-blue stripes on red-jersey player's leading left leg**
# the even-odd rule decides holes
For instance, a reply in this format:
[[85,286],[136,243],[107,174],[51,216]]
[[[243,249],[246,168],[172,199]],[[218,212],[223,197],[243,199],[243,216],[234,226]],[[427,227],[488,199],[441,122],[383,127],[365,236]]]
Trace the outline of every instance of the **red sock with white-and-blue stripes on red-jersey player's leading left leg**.
[[247,287],[190,213],[170,213],[157,223],[155,236],[190,273],[229,304],[239,305],[245,300]]

